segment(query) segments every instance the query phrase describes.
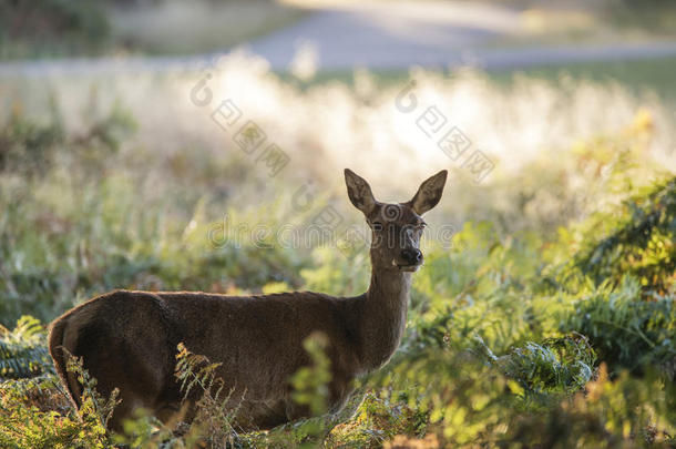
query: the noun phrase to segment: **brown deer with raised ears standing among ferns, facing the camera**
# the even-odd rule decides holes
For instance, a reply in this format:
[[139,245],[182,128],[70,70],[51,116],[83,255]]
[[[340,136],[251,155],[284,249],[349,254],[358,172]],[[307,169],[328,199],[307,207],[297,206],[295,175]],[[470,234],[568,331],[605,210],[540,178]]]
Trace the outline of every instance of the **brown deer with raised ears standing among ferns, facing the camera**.
[[238,407],[238,429],[272,429],[311,415],[293,400],[289,378],[310,365],[303,343],[320,333],[330,360],[328,411],[340,411],[354,380],[385,366],[401,343],[411,276],[423,264],[422,215],[439,203],[447,174],[424,181],[406,203],[381,203],[366,180],[345,170],[348,197],[371,231],[370,285],[359,296],[119,289],[68,310],[50,326],[49,351],[69,400],[80,408],[83,387],[66,369],[68,357],[76,357],[99,394],[119,391],[110,430],[121,431],[140,408],[163,422],[177,416],[190,422],[198,397],[184,395],[175,376],[183,344],[221,364],[217,375]]

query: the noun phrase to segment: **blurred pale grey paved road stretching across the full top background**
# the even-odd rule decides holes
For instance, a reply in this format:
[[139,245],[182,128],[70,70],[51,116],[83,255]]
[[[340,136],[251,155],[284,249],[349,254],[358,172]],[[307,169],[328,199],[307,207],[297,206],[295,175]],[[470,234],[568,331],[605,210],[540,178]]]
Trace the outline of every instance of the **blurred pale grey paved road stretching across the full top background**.
[[[406,2],[382,7],[350,3],[326,7],[296,24],[243,47],[287,70],[309,43],[319,70],[406,69],[411,65],[519,69],[581,61],[676,55],[676,42],[616,43],[498,49],[486,45],[520,31],[519,11],[475,2]],[[2,76],[49,76],[202,70],[218,57],[139,57],[0,63]]]

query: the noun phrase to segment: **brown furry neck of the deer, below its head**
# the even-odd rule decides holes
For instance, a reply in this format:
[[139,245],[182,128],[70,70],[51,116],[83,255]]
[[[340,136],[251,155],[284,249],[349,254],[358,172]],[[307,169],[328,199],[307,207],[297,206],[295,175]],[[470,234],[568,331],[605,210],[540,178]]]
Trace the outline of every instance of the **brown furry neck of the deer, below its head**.
[[373,266],[359,320],[363,366],[385,365],[399,347],[406,328],[411,274]]

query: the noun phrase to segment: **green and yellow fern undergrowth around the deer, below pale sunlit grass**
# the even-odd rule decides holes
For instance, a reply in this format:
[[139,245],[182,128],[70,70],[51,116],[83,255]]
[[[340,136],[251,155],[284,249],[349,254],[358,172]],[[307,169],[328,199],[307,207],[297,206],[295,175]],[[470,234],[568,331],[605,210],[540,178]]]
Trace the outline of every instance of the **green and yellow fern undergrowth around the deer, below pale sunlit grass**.
[[[482,191],[501,204],[494,215],[458,226],[452,245],[427,239],[401,347],[356,382],[341,412],[326,409],[321,337],[306,341],[311,363],[289,379],[316,417],[272,431],[240,431],[218,361],[181,346],[176,378],[192,419],[140,411],[124,432],[106,432],[116,397],[100,397],[73,359],[84,386],[73,410],[47,351],[44,323],[73,304],[112,288],[351,295],[368,282],[366,249],[209,241],[223,211],[234,226],[275,227],[290,220],[288,204],[231,207],[236,193],[219,167],[240,165],[198,150],[125,151],[133,123],[121,108],[92,112],[73,135],[57,112],[39,122],[17,110],[0,130],[0,313],[16,323],[0,329],[0,447],[676,443],[676,180],[643,162],[649,130],[585,142],[560,166],[533,161],[522,184]],[[163,167],[161,182],[145,163]],[[574,187],[577,171],[587,184]]]

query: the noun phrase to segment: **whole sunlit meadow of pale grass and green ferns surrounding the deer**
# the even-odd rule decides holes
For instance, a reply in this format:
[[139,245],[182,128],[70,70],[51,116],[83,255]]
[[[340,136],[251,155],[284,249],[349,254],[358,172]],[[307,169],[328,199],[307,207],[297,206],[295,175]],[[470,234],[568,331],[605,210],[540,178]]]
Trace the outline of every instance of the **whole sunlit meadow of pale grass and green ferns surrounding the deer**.
[[[247,54],[198,72],[3,79],[0,446],[674,447],[668,89],[566,71],[308,81]],[[440,146],[451,130],[462,143]],[[262,136],[267,156],[239,146]],[[330,361],[316,340],[290,381],[320,417],[269,432],[233,427],[187,350],[176,374],[204,397],[181,433],[143,415],[106,433],[114,398],[76,364],[85,406],[72,409],[45,326],[92,296],[362,293],[369,236],[344,167],[383,201],[450,171],[403,343],[344,412],[321,415]],[[318,223],[331,238],[304,238]]]

